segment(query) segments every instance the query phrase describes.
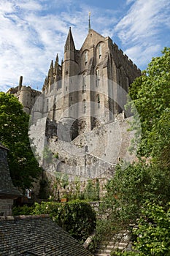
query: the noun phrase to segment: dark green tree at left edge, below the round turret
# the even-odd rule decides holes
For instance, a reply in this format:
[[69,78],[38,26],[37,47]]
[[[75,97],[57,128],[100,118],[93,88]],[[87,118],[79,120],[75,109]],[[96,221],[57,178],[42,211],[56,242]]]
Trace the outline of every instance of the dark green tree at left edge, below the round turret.
[[12,181],[16,187],[31,187],[41,169],[34,158],[28,138],[29,116],[18,99],[0,92],[0,141],[9,148],[8,160]]

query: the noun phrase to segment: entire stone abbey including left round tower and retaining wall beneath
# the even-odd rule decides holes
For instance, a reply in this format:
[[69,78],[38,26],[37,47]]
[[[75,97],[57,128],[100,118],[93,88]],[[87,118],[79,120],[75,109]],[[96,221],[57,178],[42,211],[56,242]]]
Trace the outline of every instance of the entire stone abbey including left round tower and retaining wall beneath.
[[47,146],[57,155],[48,170],[95,178],[130,159],[127,119],[132,115],[124,106],[128,87],[140,75],[109,37],[89,29],[77,50],[69,29],[63,61],[58,63],[58,55],[51,61],[42,93],[21,82],[15,92],[31,113],[37,154],[42,157]]

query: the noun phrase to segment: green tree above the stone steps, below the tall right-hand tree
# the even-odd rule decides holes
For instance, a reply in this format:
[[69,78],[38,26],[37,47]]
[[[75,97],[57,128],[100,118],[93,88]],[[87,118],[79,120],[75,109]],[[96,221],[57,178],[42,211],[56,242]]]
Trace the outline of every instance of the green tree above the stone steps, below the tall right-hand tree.
[[170,198],[169,170],[144,162],[123,168],[117,165],[114,178],[107,183],[97,222],[98,240],[129,230],[142,215],[147,200],[166,205]]

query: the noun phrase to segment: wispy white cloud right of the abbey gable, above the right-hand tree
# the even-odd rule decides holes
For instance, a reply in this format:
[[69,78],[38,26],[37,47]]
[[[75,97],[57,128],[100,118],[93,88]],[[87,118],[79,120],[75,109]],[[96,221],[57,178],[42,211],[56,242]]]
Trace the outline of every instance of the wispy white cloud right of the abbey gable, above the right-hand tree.
[[167,26],[169,9],[170,2],[166,0],[138,0],[115,26],[125,53],[136,64],[144,67],[165,46],[160,34]]

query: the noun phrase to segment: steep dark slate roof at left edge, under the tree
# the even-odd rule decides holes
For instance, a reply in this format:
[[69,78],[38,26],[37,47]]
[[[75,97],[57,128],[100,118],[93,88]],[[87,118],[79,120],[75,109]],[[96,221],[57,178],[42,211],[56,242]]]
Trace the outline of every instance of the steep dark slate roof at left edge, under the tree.
[[8,149],[0,143],[0,197],[16,198],[22,195],[12,184],[7,162]]

